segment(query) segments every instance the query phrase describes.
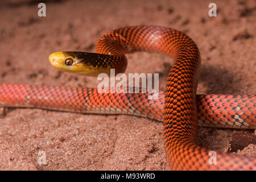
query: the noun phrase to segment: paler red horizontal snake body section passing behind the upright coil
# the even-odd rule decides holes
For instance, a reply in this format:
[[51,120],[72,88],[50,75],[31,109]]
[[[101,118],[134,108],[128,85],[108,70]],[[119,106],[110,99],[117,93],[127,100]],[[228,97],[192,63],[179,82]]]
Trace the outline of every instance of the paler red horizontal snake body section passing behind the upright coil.
[[[135,88],[132,88],[135,90]],[[112,89],[113,90],[113,89]],[[35,107],[77,113],[130,114],[164,120],[164,92],[98,93],[96,88],[0,84],[0,106]],[[196,95],[199,126],[256,129],[256,97],[239,95]]]

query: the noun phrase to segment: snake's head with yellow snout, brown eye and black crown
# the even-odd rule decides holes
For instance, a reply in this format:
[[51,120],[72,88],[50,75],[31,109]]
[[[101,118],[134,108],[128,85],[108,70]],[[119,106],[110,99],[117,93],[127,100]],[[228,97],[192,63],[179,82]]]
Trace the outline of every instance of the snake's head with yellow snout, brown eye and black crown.
[[[101,59],[98,59],[101,57]],[[53,67],[60,71],[76,73],[84,76],[97,77],[100,73],[109,73],[110,67],[107,64],[99,63],[102,61],[102,55],[87,52],[54,52],[49,56],[49,61]]]

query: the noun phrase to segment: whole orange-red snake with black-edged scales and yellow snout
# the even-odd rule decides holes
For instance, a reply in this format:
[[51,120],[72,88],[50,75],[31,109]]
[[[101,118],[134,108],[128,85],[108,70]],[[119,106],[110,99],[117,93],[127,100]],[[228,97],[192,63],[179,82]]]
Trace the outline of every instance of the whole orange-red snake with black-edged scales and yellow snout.
[[[163,122],[164,148],[172,170],[256,170],[252,156],[211,151],[197,144],[198,126],[255,129],[256,95],[197,95],[200,52],[183,32],[162,26],[118,28],[98,40],[96,53],[54,52],[49,61],[64,72],[109,76],[110,69],[115,69],[115,75],[125,72],[125,54],[135,51],[160,52],[175,60],[165,91],[160,90],[154,100],[148,99],[152,93],[127,93],[128,88],[105,88],[99,93],[97,88],[0,84],[0,106],[155,119]],[[112,89],[121,92],[107,92]]]

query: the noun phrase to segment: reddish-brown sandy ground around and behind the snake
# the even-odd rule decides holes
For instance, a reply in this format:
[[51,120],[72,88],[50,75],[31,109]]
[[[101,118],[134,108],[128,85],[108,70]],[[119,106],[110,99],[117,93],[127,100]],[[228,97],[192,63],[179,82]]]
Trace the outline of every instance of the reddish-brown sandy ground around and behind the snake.
[[[48,55],[94,52],[101,35],[115,28],[154,24],[187,33],[199,46],[198,93],[255,94],[256,3],[215,1],[0,2],[0,82],[96,87],[96,78],[62,73]],[[164,89],[172,60],[159,53],[133,53],[126,73],[160,73]],[[143,66],[142,66],[143,65]],[[76,114],[41,109],[0,109],[0,169],[170,170],[163,124],[126,115]],[[254,130],[200,127],[199,144],[256,156]],[[38,162],[39,152],[46,164]]]

